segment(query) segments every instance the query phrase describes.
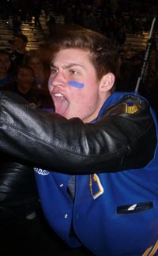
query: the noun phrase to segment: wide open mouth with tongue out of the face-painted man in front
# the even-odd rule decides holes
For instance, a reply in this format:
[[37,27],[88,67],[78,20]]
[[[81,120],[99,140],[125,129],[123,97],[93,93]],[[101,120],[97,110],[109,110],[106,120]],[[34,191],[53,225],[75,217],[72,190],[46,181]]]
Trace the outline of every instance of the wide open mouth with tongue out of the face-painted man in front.
[[68,100],[66,100],[66,98],[62,95],[62,93],[55,93],[54,99],[55,99],[55,113],[58,113],[59,115],[66,114],[66,111],[70,105]]

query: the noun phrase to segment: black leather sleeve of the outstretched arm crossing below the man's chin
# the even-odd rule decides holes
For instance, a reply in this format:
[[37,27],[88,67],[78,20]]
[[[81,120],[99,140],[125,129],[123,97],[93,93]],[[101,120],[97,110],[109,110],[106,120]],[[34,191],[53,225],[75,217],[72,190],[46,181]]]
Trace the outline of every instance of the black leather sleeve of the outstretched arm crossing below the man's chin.
[[[126,112],[126,104],[137,111]],[[93,123],[42,111],[2,92],[0,150],[16,160],[52,171],[87,174],[142,168],[152,160],[156,127],[149,104],[126,96]]]

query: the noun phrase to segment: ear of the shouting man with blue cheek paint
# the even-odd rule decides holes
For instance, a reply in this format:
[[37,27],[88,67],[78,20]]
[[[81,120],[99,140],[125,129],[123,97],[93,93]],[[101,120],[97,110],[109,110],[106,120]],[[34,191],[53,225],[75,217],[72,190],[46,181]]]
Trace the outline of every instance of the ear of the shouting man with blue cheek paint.
[[110,91],[115,83],[114,73],[105,74],[100,80],[100,92]]

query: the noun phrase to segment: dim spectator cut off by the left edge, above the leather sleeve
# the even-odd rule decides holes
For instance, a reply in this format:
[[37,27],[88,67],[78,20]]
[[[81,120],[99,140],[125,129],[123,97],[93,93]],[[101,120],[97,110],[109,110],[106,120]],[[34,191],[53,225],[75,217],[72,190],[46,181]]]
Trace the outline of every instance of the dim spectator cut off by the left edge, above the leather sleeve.
[[0,90],[8,89],[13,85],[13,66],[6,50],[0,50]]

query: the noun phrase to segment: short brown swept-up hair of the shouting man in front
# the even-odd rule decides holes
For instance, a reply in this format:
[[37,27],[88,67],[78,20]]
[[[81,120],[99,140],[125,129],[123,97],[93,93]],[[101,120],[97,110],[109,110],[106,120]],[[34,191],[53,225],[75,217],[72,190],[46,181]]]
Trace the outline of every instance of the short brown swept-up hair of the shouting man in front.
[[55,55],[58,51],[67,48],[88,51],[99,79],[109,72],[117,76],[119,55],[115,49],[114,42],[99,32],[81,27],[63,29],[51,41],[51,49],[53,55]]

